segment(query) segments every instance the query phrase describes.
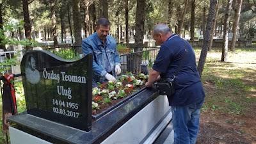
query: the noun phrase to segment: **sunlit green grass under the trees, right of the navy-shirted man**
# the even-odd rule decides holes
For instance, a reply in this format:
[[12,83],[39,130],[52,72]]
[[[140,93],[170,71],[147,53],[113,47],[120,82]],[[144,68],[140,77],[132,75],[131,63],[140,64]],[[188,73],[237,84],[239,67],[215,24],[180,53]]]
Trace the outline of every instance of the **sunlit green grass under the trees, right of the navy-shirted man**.
[[[196,49],[196,58],[200,50]],[[230,115],[244,115],[253,111],[256,102],[256,49],[236,49],[228,52],[228,62],[221,62],[221,52],[207,54],[202,83],[207,97],[203,111],[221,111]]]

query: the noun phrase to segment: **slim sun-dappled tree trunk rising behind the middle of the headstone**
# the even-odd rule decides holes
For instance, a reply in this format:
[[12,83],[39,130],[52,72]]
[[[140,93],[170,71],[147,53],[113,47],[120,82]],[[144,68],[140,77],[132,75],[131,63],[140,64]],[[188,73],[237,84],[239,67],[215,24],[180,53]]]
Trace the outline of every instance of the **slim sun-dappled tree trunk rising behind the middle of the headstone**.
[[52,35],[54,47],[58,47],[56,15],[55,15],[55,2],[51,1],[51,19],[52,19]]

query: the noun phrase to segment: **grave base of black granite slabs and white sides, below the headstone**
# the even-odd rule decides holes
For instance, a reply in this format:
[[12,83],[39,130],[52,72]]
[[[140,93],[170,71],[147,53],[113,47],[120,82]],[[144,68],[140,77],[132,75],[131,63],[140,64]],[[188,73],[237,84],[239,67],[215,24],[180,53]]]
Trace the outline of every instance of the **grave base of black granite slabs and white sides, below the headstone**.
[[144,89],[82,131],[22,113],[9,118],[11,143],[152,143],[172,120],[166,96]]

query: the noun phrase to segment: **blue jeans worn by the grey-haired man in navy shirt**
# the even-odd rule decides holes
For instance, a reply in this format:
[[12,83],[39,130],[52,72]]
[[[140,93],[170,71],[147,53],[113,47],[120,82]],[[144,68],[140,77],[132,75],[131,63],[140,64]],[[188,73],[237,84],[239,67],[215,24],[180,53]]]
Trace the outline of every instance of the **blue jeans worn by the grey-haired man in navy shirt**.
[[204,99],[200,99],[187,106],[172,106],[174,144],[196,143],[203,103]]

